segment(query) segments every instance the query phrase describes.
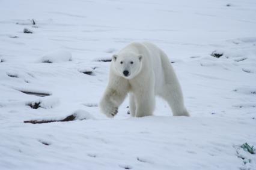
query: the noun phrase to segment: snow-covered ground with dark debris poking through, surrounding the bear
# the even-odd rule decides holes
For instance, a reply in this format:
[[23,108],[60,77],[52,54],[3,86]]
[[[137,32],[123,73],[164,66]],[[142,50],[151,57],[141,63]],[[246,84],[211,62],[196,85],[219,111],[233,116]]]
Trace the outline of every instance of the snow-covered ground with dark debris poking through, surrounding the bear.
[[[0,169],[256,169],[240,148],[256,146],[254,0],[3,0],[0,16]],[[132,41],[168,54],[191,117],[162,99],[99,113],[100,60]]]

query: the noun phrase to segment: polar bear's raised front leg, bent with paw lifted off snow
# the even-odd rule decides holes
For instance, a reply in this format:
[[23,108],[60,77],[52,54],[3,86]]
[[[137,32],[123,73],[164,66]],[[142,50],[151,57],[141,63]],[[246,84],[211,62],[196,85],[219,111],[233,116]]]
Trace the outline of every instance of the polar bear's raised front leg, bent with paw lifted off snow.
[[102,113],[107,117],[114,117],[118,113],[118,107],[124,101],[128,91],[128,83],[122,78],[115,78],[116,81],[111,81],[106,87],[103,98],[100,101],[99,107]]

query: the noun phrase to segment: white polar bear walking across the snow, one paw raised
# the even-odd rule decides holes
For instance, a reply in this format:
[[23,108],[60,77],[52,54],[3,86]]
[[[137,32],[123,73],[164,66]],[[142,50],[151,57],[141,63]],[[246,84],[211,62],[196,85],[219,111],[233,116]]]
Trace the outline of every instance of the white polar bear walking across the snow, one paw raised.
[[133,42],[112,56],[100,110],[114,117],[128,93],[133,117],[153,115],[156,96],[168,102],[174,116],[189,116],[168,56],[150,42]]

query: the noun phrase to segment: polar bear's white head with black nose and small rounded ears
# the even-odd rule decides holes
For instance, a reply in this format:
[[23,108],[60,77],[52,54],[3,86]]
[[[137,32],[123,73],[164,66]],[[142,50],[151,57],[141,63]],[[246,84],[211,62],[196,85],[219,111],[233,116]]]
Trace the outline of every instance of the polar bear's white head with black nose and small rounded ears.
[[114,69],[118,75],[132,79],[139,74],[142,67],[142,55],[135,53],[121,53],[112,56]]

